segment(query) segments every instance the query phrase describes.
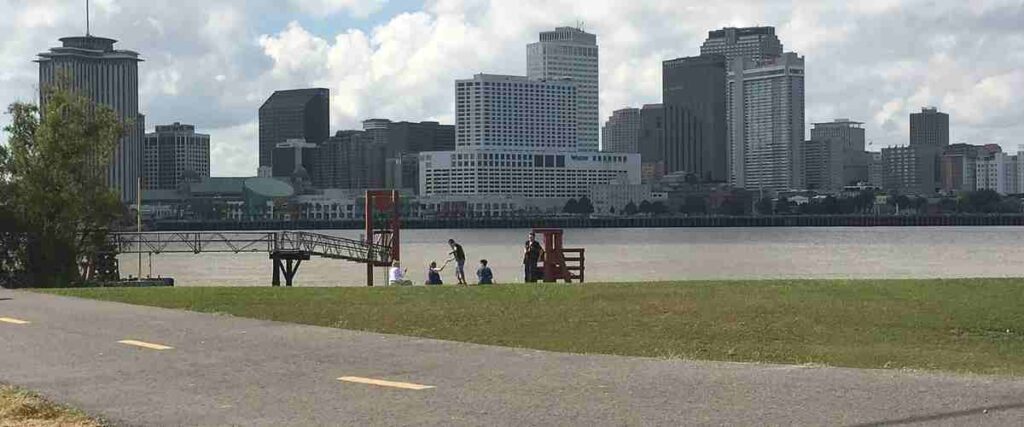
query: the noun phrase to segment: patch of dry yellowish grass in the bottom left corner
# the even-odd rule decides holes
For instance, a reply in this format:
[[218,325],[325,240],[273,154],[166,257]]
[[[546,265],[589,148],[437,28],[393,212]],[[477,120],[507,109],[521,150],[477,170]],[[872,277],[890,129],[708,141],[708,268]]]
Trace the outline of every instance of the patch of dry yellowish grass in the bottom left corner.
[[99,427],[84,414],[28,391],[0,385],[0,427]]

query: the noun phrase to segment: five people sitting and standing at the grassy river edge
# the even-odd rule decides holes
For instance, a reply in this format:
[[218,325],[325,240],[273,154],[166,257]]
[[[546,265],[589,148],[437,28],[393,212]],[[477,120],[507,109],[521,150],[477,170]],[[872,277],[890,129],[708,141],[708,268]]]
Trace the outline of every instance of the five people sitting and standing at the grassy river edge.
[[[430,265],[427,267],[427,277],[426,285],[436,286],[443,285],[441,280],[441,271],[449,266],[450,263],[455,261],[455,277],[458,285],[466,286],[466,251],[462,248],[462,245],[458,244],[454,239],[449,239],[449,248],[452,249],[449,252],[449,258],[440,266],[437,265],[436,261],[431,261]],[[537,242],[537,236],[532,232],[526,239],[526,243],[523,244],[522,251],[522,263],[523,263],[523,276],[526,283],[534,283],[541,280],[541,272],[537,268],[537,264],[541,261],[544,256],[544,248],[541,244]],[[401,264],[395,260],[391,265],[391,270],[388,273],[388,283],[392,286],[412,286],[413,281],[406,277],[409,270],[402,268]],[[495,273],[487,266],[487,260],[481,259],[480,265],[476,268],[476,284],[477,285],[494,285]]]

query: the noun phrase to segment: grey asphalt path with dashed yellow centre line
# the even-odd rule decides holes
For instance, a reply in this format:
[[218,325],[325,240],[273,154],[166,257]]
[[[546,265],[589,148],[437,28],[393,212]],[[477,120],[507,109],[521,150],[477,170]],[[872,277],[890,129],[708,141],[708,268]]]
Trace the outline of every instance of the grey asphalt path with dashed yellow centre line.
[[562,354],[2,290],[0,382],[125,425],[1024,423],[1024,380]]

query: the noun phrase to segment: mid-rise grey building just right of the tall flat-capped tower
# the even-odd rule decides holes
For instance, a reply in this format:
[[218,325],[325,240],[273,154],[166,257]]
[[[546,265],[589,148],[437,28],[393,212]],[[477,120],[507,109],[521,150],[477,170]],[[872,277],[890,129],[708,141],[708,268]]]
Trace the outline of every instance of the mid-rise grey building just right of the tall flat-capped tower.
[[193,125],[157,126],[143,141],[142,188],[176,189],[183,179],[210,176],[210,135]]

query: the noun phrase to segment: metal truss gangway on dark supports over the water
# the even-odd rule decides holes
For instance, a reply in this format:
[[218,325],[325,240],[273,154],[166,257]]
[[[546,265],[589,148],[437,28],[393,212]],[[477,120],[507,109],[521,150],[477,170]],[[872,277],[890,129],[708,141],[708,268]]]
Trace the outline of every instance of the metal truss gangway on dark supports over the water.
[[[380,238],[378,236],[378,238]],[[272,286],[286,286],[303,260],[311,256],[389,266],[392,242],[387,239],[338,238],[308,231],[141,231],[113,232],[111,247],[118,254],[266,253],[273,263]]]

